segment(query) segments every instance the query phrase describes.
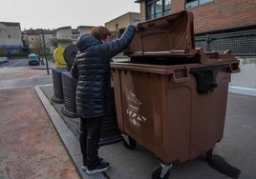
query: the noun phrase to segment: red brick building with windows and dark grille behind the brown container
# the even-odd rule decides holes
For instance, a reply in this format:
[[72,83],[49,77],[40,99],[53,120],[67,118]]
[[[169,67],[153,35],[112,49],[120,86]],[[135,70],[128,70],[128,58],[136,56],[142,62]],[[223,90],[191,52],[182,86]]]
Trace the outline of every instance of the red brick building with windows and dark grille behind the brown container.
[[141,20],[181,10],[194,14],[196,47],[256,55],[256,0],[137,0]]

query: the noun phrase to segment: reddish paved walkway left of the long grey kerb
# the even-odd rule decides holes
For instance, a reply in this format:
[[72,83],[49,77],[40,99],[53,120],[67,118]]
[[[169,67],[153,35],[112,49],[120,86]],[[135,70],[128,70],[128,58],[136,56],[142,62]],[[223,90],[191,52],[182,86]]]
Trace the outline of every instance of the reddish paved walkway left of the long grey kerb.
[[33,87],[52,75],[15,68],[0,78],[0,178],[80,178]]

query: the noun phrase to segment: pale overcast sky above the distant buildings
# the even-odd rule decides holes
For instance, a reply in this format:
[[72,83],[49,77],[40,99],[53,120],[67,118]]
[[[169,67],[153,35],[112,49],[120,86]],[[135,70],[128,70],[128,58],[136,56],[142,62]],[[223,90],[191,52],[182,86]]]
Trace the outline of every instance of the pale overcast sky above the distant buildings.
[[21,30],[100,26],[128,11],[135,0],[1,0],[0,22],[18,22]]

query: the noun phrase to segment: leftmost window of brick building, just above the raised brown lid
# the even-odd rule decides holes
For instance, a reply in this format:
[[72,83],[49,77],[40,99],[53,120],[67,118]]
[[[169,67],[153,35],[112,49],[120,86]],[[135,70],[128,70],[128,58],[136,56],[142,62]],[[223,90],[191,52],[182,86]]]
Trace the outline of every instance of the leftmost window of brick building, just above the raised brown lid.
[[171,0],[146,0],[146,19],[154,19],[171,12]]

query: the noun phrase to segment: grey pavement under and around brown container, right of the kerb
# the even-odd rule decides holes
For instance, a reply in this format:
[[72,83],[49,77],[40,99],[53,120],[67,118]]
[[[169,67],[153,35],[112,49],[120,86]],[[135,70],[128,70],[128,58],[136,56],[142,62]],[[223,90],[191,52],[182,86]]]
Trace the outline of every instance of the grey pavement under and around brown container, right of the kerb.
[[[51,99],[53,96],[52,85],[41,86],[39,89],[48,99]],[[73,142],[76,140],[75,143],[73,143],[76,147],[73,146],[72,148],[79,148],[77,140],[78,118],[68,118],[64,116],[60,111],[63,104],[52,103],[52,105],[52,107],[45,105],[49,108],[53,108],[57,113],[56,116],[51,118],[58,118],[59,121],[65,121],[70,128],[70,131],[72,131],[69,136],[74,135]],[[241,179],[254,179],[256,176],[256,162],[254,161],[254,158],[256,158],[256,145],[254,142],[256,138],[256,111],[253,108],[255,106],[256,97],[234,93],[228,94],[224,138],[214,148],[216,156],[221,156],[227,162],[227,165],[229,164],[230,167],[241,170],[239,177]],[[68,143],[65,144],[65,142],[64,145],[67,145],[66,148],[72,146]],[[70,153],[75,153],[75,151],[73,151],[74,149],[69,149]],[[160,167],[154,154],[139,145],[136,149],[130,150],[126,149],[120,142],[101,147],[99,149],[99,154],[111,164],[111,168],[103,173],[105,176],[104,178],[148,179],[151,178],[153,170]],[[79,169],[81,165],[80,154],[74,154],[73,158],[75,166]],[[222,160],[222,158],[218,159]],[[224,164],[225,163],[221,161],[220,165],[222,165],[227,172],[228,169],[225,168]],[[80,170],[80,172],[83,175],[83,178],[88,178],[88,175],[86,175],[83,170]],[[169,178],[225,179],[230,177],[218,172],[216,169],[212,169],[207,165],[203,157],[199,157],[170,169]]]

